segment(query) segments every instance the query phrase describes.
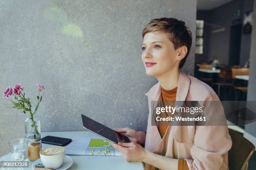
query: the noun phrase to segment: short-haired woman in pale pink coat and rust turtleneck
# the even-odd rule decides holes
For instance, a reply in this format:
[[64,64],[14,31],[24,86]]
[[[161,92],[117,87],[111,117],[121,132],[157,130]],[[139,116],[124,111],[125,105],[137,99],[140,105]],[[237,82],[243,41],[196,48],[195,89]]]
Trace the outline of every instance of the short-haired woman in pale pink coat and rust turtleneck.
[[192,44],[191,32],[183,21],[160,18],[146,25],[142,37],[146,74],[159,81],[146,93],[147,131],[115,129],[131,143],[112,143],[113,147],[126,161],[145,163],[146,170],[227,170],[232,145],[227,126],[154,126],[151,122],[151,101],[219,101],[211,87],[180,70]]

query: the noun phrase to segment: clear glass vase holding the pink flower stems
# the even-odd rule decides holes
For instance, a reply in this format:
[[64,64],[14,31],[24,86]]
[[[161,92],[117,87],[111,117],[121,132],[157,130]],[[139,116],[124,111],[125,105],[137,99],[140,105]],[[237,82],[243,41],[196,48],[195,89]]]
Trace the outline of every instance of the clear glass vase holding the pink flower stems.
[[40,120],[37,117],[27,117],[25,120],[25,138],[34,136],[34,134],[41,137]]

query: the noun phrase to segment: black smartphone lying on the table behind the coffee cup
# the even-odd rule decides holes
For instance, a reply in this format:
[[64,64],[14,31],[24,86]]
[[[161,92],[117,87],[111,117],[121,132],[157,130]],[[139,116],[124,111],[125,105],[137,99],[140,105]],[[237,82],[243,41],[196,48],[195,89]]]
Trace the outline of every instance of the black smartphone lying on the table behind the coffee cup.
[[58,145],[58,146],[66,146],[71,143],[72,139],[68,138],[60,138],[56,136],[46,136],[41,139],[42,143],[50,144],[50,145]]

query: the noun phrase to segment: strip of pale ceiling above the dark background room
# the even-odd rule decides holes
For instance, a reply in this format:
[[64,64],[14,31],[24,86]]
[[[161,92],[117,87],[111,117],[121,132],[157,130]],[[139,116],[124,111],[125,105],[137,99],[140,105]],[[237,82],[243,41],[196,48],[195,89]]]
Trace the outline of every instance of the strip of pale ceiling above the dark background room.
[[232,0],[197,0],[197,10],[212,10]]

